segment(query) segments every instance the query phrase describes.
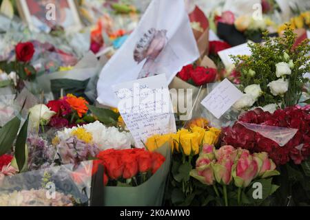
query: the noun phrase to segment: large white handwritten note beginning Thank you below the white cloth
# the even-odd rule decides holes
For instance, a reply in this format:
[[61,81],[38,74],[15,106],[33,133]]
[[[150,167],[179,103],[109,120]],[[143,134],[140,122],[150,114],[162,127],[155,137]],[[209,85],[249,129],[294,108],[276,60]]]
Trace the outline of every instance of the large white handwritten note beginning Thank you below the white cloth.
[[147,137],[176,132],[165,74],[114,85],[118,110],[132,133],[136,147],[143,148]]

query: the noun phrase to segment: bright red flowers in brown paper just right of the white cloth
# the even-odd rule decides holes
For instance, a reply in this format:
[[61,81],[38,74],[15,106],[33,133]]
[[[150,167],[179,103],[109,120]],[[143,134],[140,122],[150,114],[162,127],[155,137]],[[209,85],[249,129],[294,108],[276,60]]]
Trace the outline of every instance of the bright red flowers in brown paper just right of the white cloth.
[[216,80],[217,73],[214,68],[194,67],[194,65],[189,64],[178,72],[178,77],[184,81],[192,79],[195,85],[200,86],[206,83],[213,83]]

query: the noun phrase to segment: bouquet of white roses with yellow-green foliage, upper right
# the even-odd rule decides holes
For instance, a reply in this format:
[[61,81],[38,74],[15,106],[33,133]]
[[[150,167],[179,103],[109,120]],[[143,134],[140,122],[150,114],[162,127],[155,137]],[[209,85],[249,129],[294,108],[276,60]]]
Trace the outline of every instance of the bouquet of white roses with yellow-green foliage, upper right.
[[250,43],[251,56],[232,57],[240,72],[240,89],[245,92],[234,104],[236,109],[298,104],[308,80],[304,74],[310,69],[310,45],[305,40],[294,47],[295,40],[296,34],[287,27],[283,37],[265,35],[265,43]]

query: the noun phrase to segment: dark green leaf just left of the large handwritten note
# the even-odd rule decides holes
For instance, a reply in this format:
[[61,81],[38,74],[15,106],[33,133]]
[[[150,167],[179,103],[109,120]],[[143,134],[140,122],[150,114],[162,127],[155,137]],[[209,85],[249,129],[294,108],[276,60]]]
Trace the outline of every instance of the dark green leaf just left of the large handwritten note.
[[110,109],[102,109],[90,104],[87,104],[87,107],[98,118],[99,122],[102,122],[103,124],[114,124],[118,120],[119,114]]

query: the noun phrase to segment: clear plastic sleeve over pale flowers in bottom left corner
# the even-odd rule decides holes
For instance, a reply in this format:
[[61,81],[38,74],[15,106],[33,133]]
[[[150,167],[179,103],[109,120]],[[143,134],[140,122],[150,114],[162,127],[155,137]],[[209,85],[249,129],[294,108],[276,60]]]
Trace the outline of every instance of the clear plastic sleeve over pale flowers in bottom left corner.
[[0,180],[0,206],[88,206],[92,161],[20,173]]

